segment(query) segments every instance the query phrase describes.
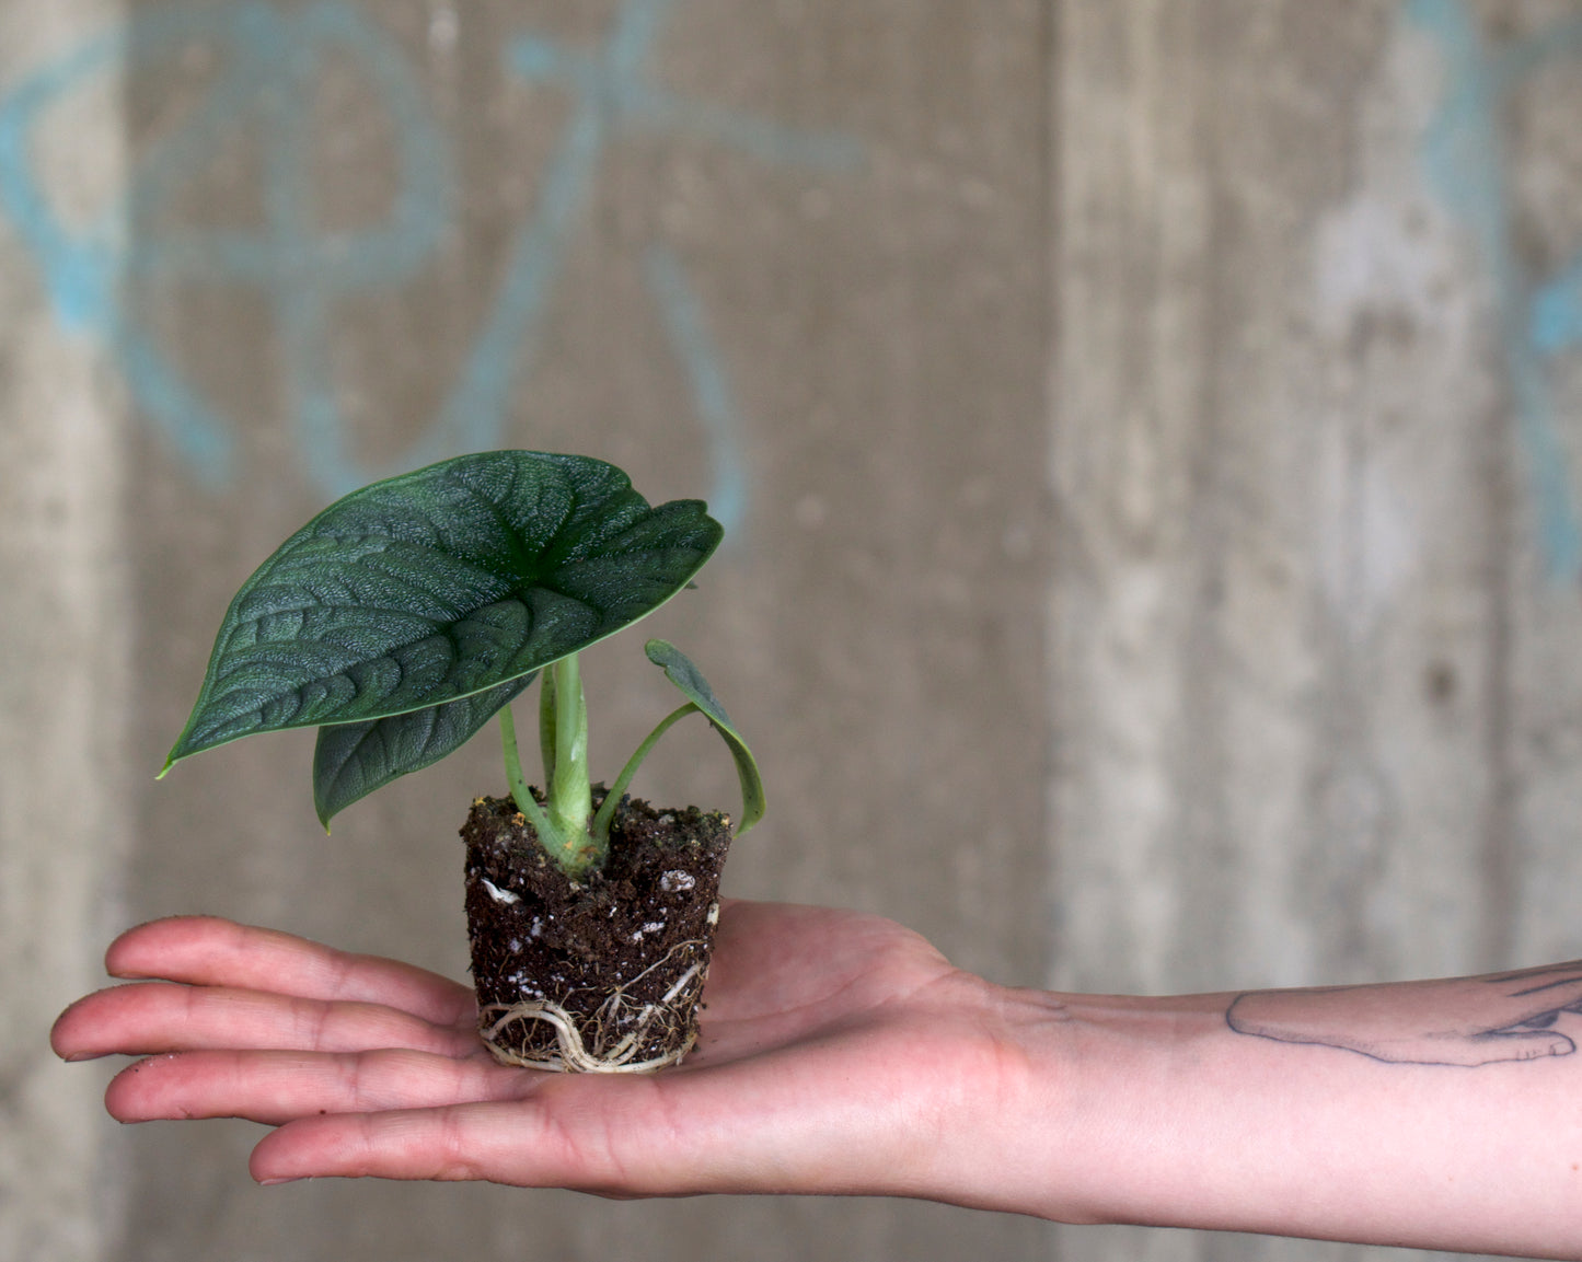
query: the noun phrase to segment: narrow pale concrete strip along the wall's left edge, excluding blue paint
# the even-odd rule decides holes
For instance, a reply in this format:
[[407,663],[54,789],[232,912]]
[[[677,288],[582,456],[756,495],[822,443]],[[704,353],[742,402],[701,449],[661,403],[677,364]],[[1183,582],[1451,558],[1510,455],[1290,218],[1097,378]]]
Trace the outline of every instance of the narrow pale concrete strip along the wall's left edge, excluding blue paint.
[[[0,6],[0,84],[115,9]],[[63,122],[38,169],[93,213],[123,171],[119,96],[95,93]],[[84,1262],[119,1218],[106,1075],[60,1064],[46,1031],[98,985],[125,917],[125,405],[98,348],[55,316],[0,232],[0,1257]]]

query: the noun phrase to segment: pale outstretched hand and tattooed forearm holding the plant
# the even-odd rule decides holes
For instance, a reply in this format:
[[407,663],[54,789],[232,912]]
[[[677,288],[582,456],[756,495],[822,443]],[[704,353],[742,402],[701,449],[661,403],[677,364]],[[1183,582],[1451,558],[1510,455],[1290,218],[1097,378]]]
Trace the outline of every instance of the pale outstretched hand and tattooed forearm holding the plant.
[[[1582,966],[1321,992],[1012,990],[872,916],[728,903],[680,1069],[497,1066],[471,990],[210,917],[109,949],[68,1060],[123,1121],[271,1126],[263,1183],[925,1197],[1582,1257]],[[1568,1033],[1569,1026],[1569,1033]],[[1424,1050],[1427,1049],[1427,1052]]]

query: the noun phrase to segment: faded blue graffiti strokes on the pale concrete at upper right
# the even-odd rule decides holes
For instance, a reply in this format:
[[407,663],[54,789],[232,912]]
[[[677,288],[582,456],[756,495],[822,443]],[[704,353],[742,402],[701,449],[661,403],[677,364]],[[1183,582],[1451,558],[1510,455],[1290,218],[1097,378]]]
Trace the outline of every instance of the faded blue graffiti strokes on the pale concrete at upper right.
[[1422,161],[1440,196],[1471,229],[1489,269],[1544,560],[1552,577],[1574,579],[1582,572],[1582,520],[1549,361],[1582,346],[1582,253],[1547,280],[1530,274],[1512,231],[1501,114],[1538,70],[1582,57],[1582,17],[1490,47],[1467,0],[1410,0],[1406,13],[1438,41],[1449,84],[1422,138]]

